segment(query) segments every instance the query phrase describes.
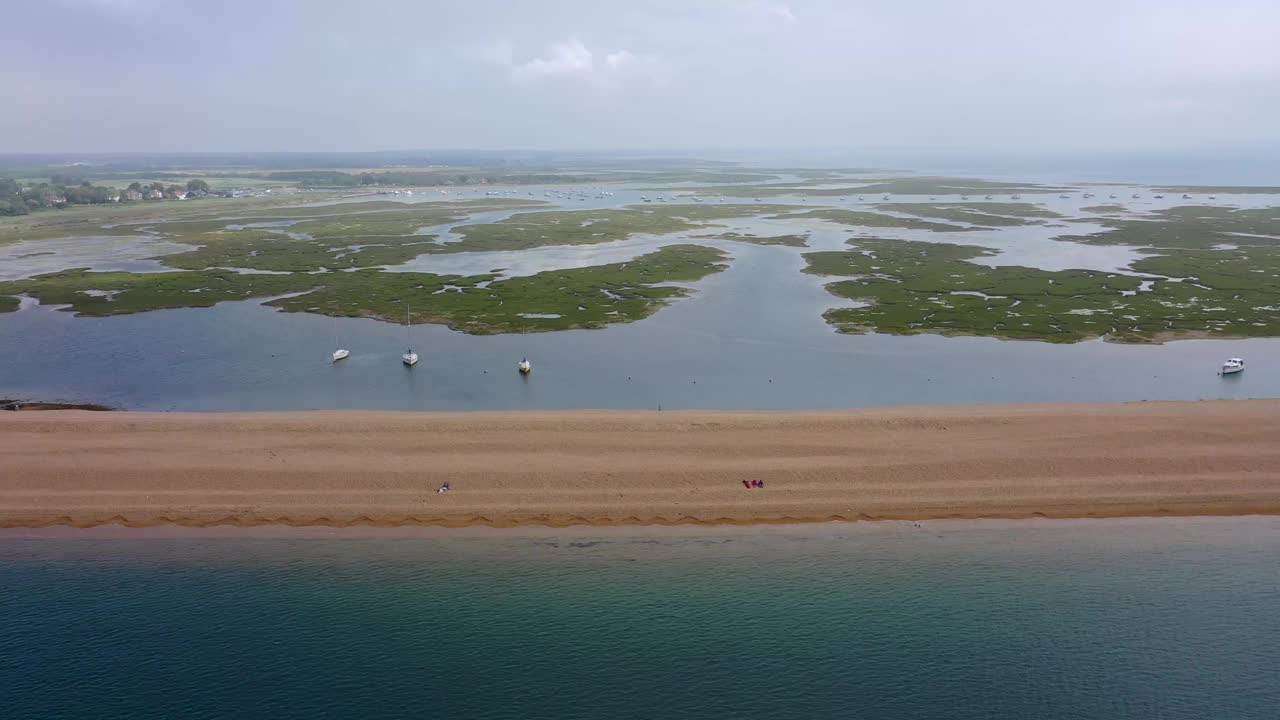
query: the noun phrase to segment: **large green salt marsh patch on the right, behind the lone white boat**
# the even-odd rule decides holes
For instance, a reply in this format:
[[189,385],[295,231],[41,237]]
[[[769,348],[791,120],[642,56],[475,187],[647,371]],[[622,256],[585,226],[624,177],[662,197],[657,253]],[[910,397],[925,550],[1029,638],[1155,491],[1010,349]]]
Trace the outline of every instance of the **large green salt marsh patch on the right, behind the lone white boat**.
[[1009,340],[1162,342],[1280,334],[1280,254],[1178,252],[1134,265],[1184,282],[1093,270],[970,263],[993,251],[900,240],[850,241],[859,251],[805,255],[806,272],[847,277],[827,290],[868,302],[828,310],[840,332],[940,333]]

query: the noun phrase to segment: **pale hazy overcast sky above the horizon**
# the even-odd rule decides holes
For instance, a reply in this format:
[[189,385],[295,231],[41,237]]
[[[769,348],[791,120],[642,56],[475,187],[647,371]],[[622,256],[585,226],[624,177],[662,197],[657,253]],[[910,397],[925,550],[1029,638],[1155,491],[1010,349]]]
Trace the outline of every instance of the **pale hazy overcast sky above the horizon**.
[[0,152],[1280,143],[1275,0],[36,0]]

